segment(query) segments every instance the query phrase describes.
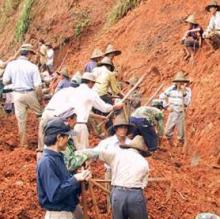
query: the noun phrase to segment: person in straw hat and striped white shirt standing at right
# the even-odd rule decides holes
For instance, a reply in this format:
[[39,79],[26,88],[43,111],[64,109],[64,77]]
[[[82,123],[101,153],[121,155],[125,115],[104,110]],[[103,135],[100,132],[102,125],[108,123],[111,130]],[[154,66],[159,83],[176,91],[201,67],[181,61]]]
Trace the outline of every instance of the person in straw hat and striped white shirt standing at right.
[[163,101],[163,106],[168,109],[169,116],[166,124],[165,135],[173,145],[172,137],[174,128],[177,128],[177,139],[180,145],[184,143],[184,114],[186,108],[191,103],[192,92],[187,84],[189,80],[186,79],[185,72],[179,71],[173,79],[174,85],[167,88],[161,95],[160,99]]

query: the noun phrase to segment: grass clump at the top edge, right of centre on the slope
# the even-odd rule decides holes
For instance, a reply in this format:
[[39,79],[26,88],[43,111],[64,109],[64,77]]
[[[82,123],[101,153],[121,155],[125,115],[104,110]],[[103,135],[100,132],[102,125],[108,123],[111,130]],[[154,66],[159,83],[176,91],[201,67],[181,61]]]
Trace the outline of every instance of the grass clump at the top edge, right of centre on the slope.
[[136,8],[140,2],[141,0],[118,0],[107,18],[107,23],[110,25],[116,23],[126,16],[128,11]]

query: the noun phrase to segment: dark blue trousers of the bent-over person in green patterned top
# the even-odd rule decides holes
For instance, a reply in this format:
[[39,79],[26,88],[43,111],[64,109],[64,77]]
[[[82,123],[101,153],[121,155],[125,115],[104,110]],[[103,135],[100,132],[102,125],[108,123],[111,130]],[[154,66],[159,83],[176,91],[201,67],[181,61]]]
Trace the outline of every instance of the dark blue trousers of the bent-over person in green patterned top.
[[133,137],[136,135],[143,136],[148,150],[156,151],[159,145],[159,138],[154,126],[152,126],[145,118],[131,117],[130,123],[135,125],[134,129],[132,130]]

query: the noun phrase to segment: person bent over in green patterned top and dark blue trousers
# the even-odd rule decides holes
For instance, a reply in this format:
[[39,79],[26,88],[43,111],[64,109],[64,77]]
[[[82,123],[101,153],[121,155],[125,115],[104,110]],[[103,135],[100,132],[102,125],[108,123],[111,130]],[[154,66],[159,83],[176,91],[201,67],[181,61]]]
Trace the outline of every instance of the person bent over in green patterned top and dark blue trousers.
[[130,117],[130,123],[135,125],[133,136],[141,135],[149,152],[155,152],[159,147],[159,139],[163,137],[163,102],[152,100],[151,106],[138,107]]

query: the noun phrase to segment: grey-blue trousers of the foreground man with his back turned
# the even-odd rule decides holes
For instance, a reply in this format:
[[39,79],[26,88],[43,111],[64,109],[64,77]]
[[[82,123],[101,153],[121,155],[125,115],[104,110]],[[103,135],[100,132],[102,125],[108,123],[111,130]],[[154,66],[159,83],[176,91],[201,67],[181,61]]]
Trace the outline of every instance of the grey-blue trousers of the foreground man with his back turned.
[[141,189],[113,187],[111,193],[113,219],[147,219],[146,199]]

